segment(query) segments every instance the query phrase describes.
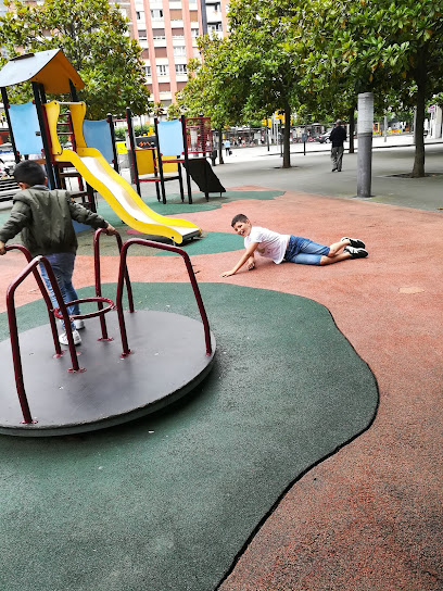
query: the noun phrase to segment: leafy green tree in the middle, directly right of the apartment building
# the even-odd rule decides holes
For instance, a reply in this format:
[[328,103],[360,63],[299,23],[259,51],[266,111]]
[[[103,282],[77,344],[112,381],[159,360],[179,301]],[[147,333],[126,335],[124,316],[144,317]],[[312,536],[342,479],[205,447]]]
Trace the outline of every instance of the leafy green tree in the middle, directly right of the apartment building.
[[[290,122],[304,93],[300,67],[305,50],[302,43],[289,41],[295,40],[293,23],[284,20],[293,4],[289,0],[231,0],[229,37],[201,41],[203,64],[194,68],[195,78],[183,91],[188,104],[197,100],[206,110],[211,105],[211,116],[224,125],[261,120],[275,111],[282,111]],[[290,165],[290,126],[286,125],[283,167]]]

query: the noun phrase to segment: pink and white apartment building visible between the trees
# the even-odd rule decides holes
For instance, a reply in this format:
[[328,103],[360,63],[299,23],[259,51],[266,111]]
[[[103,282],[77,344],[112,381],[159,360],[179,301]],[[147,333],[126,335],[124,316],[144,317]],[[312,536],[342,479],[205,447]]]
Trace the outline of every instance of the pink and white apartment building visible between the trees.
[[130,35],[142,48],[147,86],[154,102],[168,106],[187,80],[187,63],[198,58],[195,39],[226,35],[228,0],[126,0]]

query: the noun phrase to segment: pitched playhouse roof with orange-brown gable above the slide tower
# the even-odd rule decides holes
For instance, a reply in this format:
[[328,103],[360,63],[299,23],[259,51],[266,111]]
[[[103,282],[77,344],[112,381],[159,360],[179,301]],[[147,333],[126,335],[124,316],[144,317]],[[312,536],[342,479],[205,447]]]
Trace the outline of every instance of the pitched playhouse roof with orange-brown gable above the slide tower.
[[18,55],[0,70],[0,88],[29,80],[42,84],[50,95],[65,95],[71,91],[69,79],[75,88],[84,88],[85,83],[61,49]]

